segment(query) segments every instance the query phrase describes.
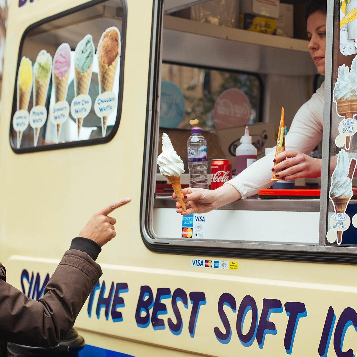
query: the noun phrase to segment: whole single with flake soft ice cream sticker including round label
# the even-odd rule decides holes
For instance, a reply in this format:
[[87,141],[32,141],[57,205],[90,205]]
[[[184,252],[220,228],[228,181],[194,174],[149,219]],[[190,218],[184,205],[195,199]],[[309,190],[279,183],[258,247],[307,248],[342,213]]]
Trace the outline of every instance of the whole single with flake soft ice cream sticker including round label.
[[356,159],[349,159],[345,150],[337,156],[337,165],[332,174],[330,200],[335,215],[331,217],[330,226],[337,231],[337,244],[342,243],[342,232],[350,225],[350,217],[345,214],[348,202],[353,195],[352,177],[356,169]]

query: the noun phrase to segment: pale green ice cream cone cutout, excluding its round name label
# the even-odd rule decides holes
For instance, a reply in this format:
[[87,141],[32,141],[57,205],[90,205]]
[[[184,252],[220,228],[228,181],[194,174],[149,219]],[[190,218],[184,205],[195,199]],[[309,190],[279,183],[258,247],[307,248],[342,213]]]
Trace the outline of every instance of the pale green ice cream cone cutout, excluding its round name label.
[[[34,106],[44,106],[47,99],[47,90],[51,76],[52,56],[45,50],[37,55],[34,64]],[[37,145],[41,127],[35,127],[34,145]]]

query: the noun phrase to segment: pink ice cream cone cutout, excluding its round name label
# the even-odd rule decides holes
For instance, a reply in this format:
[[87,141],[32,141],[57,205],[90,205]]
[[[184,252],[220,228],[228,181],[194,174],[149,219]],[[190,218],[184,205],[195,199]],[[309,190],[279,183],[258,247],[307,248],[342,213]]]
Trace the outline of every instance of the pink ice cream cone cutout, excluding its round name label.
[[[53,86],[55,92],[55,102],[65,101],[67,97],[68,77],[71,66],[71,47],[69,44],[62,44],[58,47],[53,59]],[[61,126],[57,124],[57,142],[59,142]]]

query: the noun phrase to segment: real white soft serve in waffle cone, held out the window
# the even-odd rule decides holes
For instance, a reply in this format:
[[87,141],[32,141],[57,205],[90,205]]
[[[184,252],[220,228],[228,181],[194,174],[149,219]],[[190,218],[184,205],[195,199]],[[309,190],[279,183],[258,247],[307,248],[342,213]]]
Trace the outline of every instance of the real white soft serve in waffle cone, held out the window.
[[162,133],[162,153],[157,157],[157,164],[160,167],[161,175],[166,177],[174,189],[177,200],[183,211],[186,212],[186,205],[183,201],[180,175],[185,172],[181,157],[176,154],[171,140],[166,133]]

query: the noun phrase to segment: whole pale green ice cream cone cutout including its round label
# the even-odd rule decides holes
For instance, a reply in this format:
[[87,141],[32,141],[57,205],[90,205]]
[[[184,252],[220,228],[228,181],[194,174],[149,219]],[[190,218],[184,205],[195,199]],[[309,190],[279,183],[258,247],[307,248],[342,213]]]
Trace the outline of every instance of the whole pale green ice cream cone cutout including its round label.
[[47,120],[45,107],[51,76],[52,57],[45,50],[37,55],[34,64],[34,107],[30,112],[30,125],[34,129],[34,146],[37,146],[41,127]]

